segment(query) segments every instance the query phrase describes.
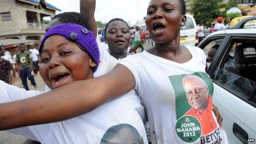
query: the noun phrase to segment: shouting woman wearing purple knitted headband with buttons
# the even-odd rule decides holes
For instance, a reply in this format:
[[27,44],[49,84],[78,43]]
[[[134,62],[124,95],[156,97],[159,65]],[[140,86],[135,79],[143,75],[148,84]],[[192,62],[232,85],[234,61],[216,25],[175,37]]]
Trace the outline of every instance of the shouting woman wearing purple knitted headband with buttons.
[[[73,81],[103,75],[115,66],[114,63],[100,61],[94,34],[85,27],[75,24],[61,24],[50,28],[40,43],[39,53],[40,74],[50,89],[57,89]],[[0,91],[1,103],[30,98],[43,93],[25,91],[2,81],[0,81],[0,87],[5,89],[5,91]],[[19,96],[16,96],[17,93]],[[53,105],[58,105],[58,101]],[[79,107],[79,105],[72,107]],[[34,112],[40,113],[37,110]],[[55,116],[59,114],[62,115],[55,113]],[[29,119],[40,118],[29,117]],[[144,107],[133,90],[121,98],[107,102],[74,119],[8,131],[42,144],[105,144],[127,141],[144,144],[147,143],[147,137],[142,119],[145,119]]]

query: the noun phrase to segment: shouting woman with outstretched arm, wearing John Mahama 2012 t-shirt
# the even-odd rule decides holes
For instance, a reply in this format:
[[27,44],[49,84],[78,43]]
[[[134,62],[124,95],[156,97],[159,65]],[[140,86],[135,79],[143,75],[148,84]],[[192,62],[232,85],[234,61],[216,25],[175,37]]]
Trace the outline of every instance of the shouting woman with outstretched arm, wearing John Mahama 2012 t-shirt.
[[[0,105],[0,119],[5,118],[0,128],[17,121],[23,121],[18,126],[26,126],[76,117],[135,88],[148,115],[153,144],[227,144],[212,110],[213,83],[205,73],[206,56],[198,47],[180,45],[185,11],[184,0],[151,0],[146,25],[155,46],[122,59],[101,77]],[[58,105],[53,105],[55,101]],[[41,119],[24,120],[29,116]]]

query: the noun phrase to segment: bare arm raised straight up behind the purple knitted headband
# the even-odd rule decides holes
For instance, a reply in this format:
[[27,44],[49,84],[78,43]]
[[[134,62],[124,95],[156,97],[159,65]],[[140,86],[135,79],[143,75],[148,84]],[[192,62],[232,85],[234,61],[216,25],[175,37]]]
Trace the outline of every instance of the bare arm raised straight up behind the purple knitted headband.
[[84,15],[90,25],[91,31],[97,37],[97,24],[94,17],[96,7],[96,0],[80,0],[80,14]]

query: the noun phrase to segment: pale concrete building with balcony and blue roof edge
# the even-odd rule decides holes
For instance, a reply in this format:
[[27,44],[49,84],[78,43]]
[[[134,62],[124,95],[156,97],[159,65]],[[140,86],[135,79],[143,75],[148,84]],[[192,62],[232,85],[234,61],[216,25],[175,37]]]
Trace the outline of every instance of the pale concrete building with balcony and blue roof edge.
[[46,0],[0,0],[0,39],[41,40],[43,17],[61,11]]

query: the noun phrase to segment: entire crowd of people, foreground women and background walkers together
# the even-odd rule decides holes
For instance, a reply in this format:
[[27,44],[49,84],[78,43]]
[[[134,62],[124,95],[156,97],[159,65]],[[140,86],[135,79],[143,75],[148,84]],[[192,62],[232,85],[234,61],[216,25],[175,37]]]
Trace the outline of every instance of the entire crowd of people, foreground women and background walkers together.
[[[95,6],[96,0],[80,0],[81,14],[54,16],[39,51],[19,46],[21,77],[36,87],[28,73],[41,61],[46,89],[28,91],[25,79],[25,89],[0,81],[0,130],[10,129],[31,144],[228,144],[211,99],[206,55],[180,45],[184,0],[151,0],[146,30],[110,20],[104,43],[94,35]],[[144,50],[149,37],[155,46]],[[127,57],[137,48],[142,53]],[[5,67],[9,80],[11,68]]]

